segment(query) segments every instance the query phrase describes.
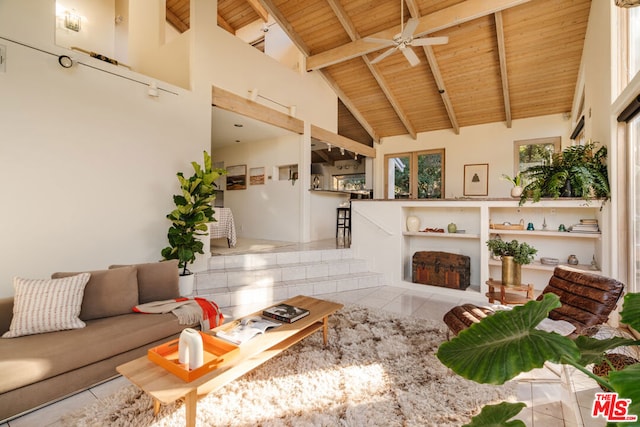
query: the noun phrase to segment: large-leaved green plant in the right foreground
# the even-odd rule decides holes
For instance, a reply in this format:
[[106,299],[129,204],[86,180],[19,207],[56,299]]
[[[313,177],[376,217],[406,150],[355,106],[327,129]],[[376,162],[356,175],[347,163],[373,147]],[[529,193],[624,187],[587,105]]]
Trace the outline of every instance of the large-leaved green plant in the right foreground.
[[[545,362],[568,364],[609,390],[618,393],[618,400],[630,399],[628,413],[640,420],[640,363],[622,370],[611,369],[600,377],[587,368],[601,363],[605,352],[620,346],[640,345],[640,341],[613,337],[596,339],[579,335],[576,338],[536,329],[560,299],[552,293],[540,301],[530,301],[513,310],[498,311],[482,319],[440,345],[437,357],[456,374],[484,384],[504,384],[521,372],[541,368]],[[634,329],[640,328],[640,294],[625,295],[621,321]],[[468,426],[524,426],[520,420],[511,420],[524,403],[488,405],[474,417]],[[610,423],[608,425],[638,425],[637,423]]]

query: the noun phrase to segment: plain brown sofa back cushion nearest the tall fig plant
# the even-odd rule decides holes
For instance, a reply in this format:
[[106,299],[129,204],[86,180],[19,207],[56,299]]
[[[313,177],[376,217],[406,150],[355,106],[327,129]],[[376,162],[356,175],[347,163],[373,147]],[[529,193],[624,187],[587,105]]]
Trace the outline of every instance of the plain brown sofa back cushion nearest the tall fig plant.
[[[138,300],[140,304],[180,297],[178,260],[135,264],[138,269]],[[109,268],[122,268],[112,265]]]

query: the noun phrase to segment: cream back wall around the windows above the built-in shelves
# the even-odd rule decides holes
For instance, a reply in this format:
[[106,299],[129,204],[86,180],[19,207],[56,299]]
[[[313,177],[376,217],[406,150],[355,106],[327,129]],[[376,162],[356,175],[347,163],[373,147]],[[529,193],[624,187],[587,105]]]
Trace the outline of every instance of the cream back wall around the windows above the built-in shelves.
[[464,165],[489,164],[488,197],[509,197],[512,185],[500,179],[502,174],[513,175],[514,141],[560,136],[562,146],[569,145],[570,122],[561,114],[514,120],[512,127],[504,123],[490,123],[463,127],[456,135],[451,130],[418,134],[417,140],[408,135],[383,138],[376,146],[374,198],[384,198],[385,154],[409,151],[445,149],[445,198],[463,197]]

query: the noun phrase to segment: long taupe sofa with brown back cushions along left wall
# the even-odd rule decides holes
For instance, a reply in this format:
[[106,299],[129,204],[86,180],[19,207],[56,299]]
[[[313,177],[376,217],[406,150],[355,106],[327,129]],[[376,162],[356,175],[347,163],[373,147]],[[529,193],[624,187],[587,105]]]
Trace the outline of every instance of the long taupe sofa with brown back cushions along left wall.
[[[179,324],[171,313],[132,311],[179,297],[177,261],[113,267],[90,272],[79,315],[84,328],[0,339],[0,420],[114,377],[116,366],[186,327],[199,328]],[[13,306],[14,298],[0,299],[0,335],[10,329]]]

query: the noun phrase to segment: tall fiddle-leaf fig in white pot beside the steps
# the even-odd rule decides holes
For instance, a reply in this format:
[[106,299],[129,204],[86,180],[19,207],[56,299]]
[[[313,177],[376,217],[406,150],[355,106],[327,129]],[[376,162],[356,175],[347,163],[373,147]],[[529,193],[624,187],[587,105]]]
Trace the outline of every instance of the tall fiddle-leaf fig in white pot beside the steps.
[[227,173],[224,169],[211,168],[211,156],[206,151],[203,166],[197,162],[191,162],[191,165],[194,173],[189,178],[182,172],[176,174],[182,193],[173,196],[176,208],[167,215],[171,221],[167,233],[169,246],[161,252],[165,260],[178,260],[180,295],[193,292],[194,277],[187,266],[196,260],[196,254],[204,254],[204,243],[199,237],[209,234],[207,223],[214,220],[215,180]]

